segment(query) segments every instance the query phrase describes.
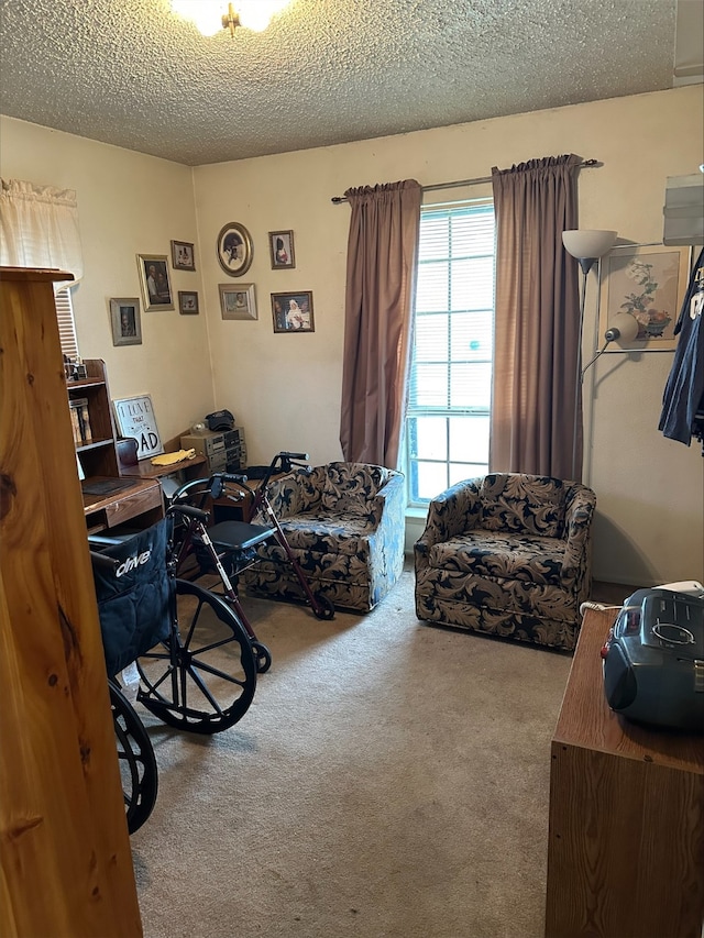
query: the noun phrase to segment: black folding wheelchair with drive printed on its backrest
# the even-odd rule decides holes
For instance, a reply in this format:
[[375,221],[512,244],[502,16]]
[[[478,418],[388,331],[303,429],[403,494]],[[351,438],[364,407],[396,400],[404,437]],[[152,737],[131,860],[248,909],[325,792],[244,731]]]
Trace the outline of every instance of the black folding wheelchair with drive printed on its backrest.
[[130,834],[150,816],[158,783],[148,732],[120,686],[123,670],[136,664],[139,705],[196,733],[233,726],[256,689],[254,651],[235,611],[176,576],[174,520],[194,511],[172,506],[164,520],[123,540],[89,537]]

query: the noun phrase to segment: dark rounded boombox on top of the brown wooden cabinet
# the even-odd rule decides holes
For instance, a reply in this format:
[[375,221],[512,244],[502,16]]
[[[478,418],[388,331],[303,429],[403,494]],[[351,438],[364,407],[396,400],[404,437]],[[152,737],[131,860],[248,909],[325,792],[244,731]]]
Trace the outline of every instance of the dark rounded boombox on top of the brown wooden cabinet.
[[704,593],[696,593],[654,587],[625,600],[602,649],[613,710],[640,724],[704,732]]

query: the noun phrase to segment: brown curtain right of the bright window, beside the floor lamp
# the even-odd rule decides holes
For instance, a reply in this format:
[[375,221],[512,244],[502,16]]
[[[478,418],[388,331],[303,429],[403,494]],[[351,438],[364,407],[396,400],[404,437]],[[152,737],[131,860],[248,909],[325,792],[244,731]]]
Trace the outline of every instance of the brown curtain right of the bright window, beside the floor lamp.
[[[490,464],[494,472],[572,475],[579,267],[562,246],[562,232],[578,228],[580,162],[574,155],[550,156],[492,170],[496,320]],[[581,466],[581,401],[579,411]]]

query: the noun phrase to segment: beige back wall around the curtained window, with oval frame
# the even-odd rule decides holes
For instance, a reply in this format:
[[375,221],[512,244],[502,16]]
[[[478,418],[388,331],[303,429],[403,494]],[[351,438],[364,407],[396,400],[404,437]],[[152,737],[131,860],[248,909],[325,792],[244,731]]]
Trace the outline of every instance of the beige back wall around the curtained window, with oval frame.
[[[330,197],[351,186],[416,178],[483,177],[492,166],[578,153],[604,165],[580,178],[582,228],[616,229],[634,243],[662,239],[666,178],[702,162],[702,86],[499,118],[195,170],[198,224],[218,407],[248,429],[253,461],[300,448],[315,462],[340,456],[338,424],[349,208]],[[484,195],[427,194],[426,201]],[[256,322],[222,322],[215,239],[228,221],[251,232],[246,282]],[[293,229],[296,269],[272,271],[267,232]],[[596,347],[596,272],[588,283],[584,354]],[[270,294],[314,293],[314,335],[275,335]],[[585,358],[586,360],[586,358]],[[658,432],[672,353],[603,356],[588,373],[585,476],[598,496],[594,572],[635,584],[704,580],[703,460]],[[409,525],[408,541],[419,533]]]

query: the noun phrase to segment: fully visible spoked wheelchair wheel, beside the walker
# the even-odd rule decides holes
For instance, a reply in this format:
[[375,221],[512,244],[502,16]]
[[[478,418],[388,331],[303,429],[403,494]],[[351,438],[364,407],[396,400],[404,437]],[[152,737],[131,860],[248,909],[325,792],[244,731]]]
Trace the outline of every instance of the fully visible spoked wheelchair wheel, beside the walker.
[[138,660],[138,699],[169,726],[191,732],[228,729],[256,688],[250,637],[213,593],[176,580],[176,619],[166,641]]

